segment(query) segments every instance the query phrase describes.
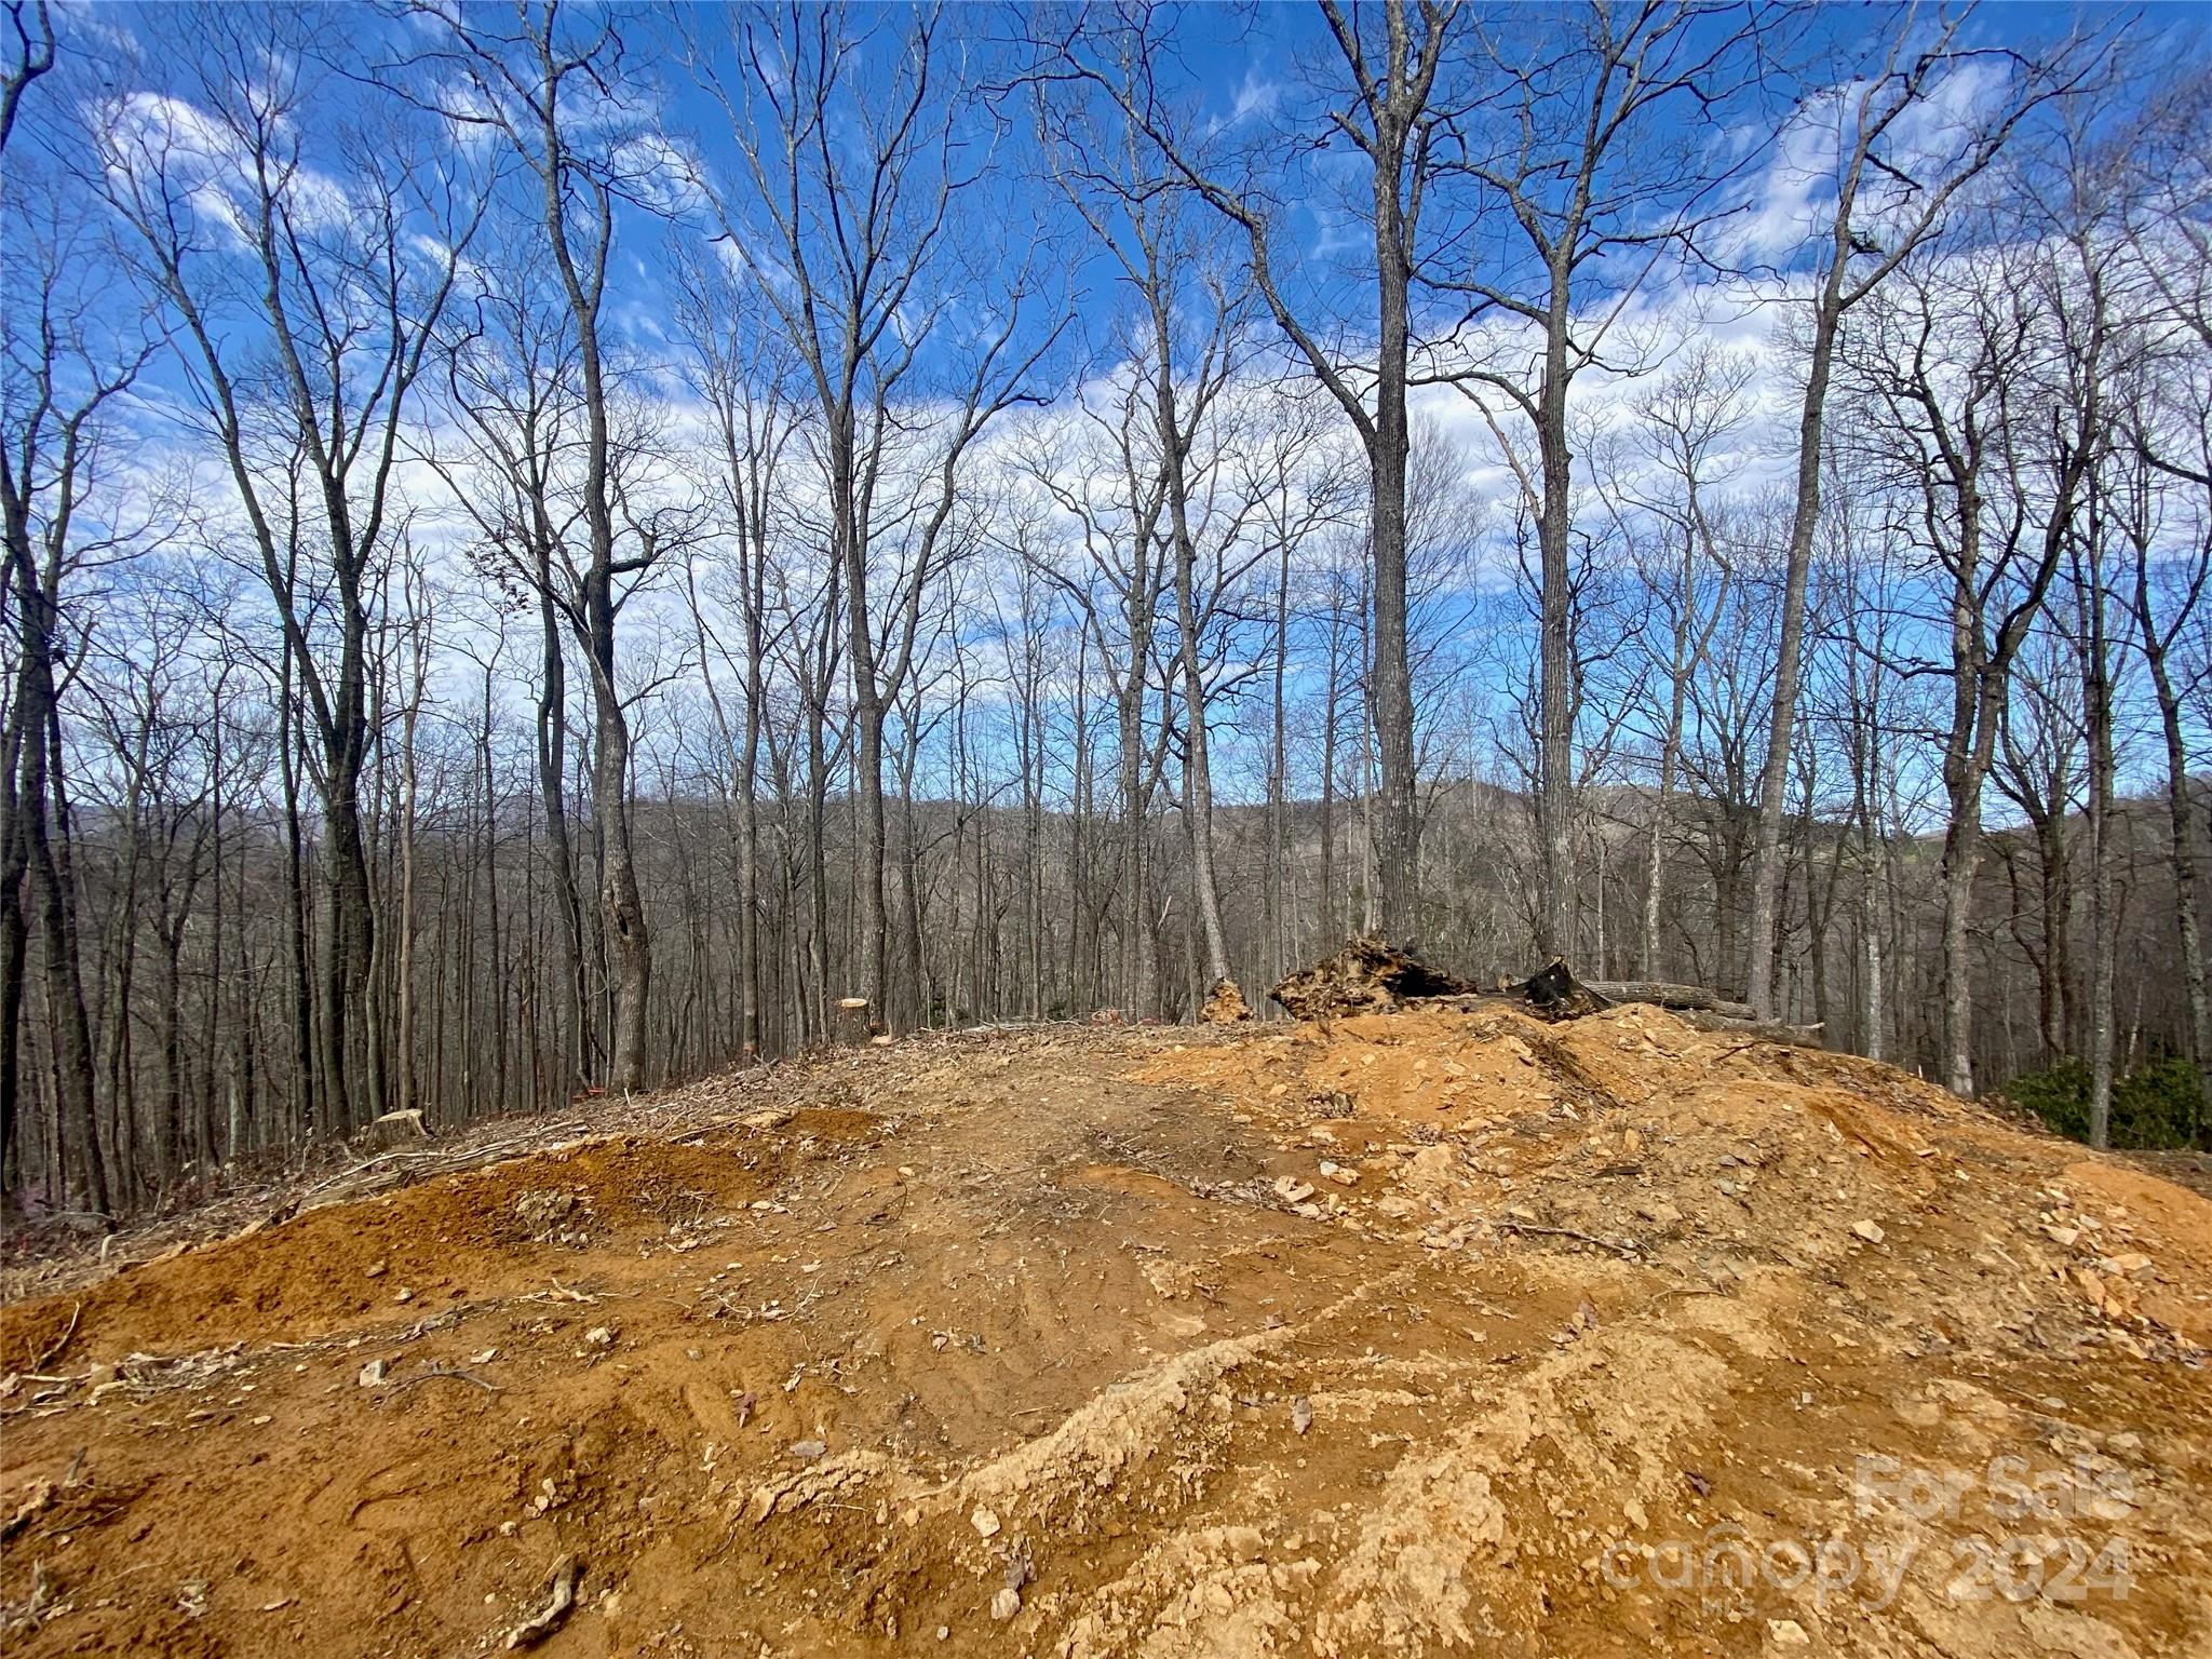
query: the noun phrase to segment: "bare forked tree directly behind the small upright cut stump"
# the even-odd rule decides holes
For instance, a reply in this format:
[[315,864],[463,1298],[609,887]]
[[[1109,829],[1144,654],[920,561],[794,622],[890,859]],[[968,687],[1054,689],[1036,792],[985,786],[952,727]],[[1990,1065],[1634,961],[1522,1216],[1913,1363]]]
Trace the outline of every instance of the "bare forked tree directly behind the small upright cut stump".
[[[741,15],[726,53],[703,60],[721,97],[743,179],[714,192],[723,234],[770,263],[759,285],[799,354],[821,425],[832,553],[845,582],[845,664],[852,679],[854,772],[860,807],[858,993],[889,1022],[911,1018],[918,987],[889,998],[885,907],[885,712],[914,670],[922,591],[938,573],[956,511],[953,480],[991,420],[1029,396],[1051,341],[1026,330],[1035,276],[1009,274],[998,319],[951,372],[929,345],[953,299],[945,230],[971,195],[978,157],[962,139],[956,53],[942,11],[920,9],[898,31],[896,69],[872,75],[883,24],[854,29],[845,7]],[[942,349],[942,343],[940,343]],[[936,392],[951,405],[920,489],[885,500],[911,405]],[[878,591],[872,546],[885,513],[914,513],[914,560]],[[878,637],[878,630],[883,637]]]

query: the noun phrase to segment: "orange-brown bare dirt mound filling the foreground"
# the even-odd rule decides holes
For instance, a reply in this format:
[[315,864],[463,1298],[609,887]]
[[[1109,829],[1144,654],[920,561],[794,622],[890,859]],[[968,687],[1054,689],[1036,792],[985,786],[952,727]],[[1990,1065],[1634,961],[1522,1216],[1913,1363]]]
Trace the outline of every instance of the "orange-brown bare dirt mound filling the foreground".
[[922,1037],[9,1283],[9,1655],[2212,1652],[2212,1201],[1655,1009]]

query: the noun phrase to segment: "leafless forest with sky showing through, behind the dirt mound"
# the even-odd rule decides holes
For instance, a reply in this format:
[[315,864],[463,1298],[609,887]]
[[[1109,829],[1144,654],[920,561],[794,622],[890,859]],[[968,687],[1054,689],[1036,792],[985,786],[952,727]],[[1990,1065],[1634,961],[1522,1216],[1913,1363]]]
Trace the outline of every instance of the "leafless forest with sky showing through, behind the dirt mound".
[[2212,1060],[2179,15],[0,33],[15,1206],[1360,929]]

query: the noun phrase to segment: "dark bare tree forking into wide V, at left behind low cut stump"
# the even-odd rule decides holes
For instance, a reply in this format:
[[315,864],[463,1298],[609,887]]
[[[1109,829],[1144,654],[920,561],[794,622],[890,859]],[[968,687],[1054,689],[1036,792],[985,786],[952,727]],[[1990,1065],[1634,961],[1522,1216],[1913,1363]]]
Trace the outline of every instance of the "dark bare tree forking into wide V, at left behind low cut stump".
[[[173,66],[188,102],[115,100],[100,161],[108,204],[177,316],[181,365],[228,462],[321,741],[316,1066],[325,1113],[349,1124],[383,1106],[383,1055],[354,1022],[376,942],[361,805],[369,628],[398,518],[409,394],[484,195],[449,146],[389,111],[307,119],[307,104],[338,84],[323,69],[338,51],[330,22],[204,13],[199,49]],[[312,146],[321,133],[332,133],[327,157]],[[416,252],[425,228],[436,232],[427,259]],[[248,319],[254,332],[241,336]],[[272,478],[283,453],[307,476],[327,593],[307,591],[292,566],[285,484]],[[312,637],[316,611],[336,622],[336,661]]]

